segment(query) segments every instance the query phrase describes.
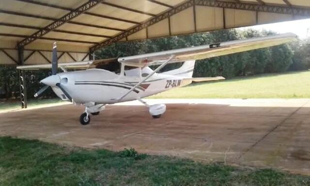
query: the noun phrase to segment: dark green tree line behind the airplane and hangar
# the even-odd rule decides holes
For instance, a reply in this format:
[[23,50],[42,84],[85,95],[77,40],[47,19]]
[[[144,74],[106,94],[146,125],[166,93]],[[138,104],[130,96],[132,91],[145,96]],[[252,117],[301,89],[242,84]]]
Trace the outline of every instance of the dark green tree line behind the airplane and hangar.
[[[156,38],[126,43],[115,43],[96,51],[96,59],[115,58],[137,55],[143,53],[171,50],[182,47],[200,46],[210,43],[245,39],[250,37],[274,34],[273,31],[229,29],[221,31],[195,33],[191,35],[171,36],[168,38]],[[262,73],[277,73],[287,70],[310,69],[310,39],[275,47],[251,50],[242,53],[220,56],[199,60],[195,64],[194,77],[223,76],[233,78],[238,76],[250,76]],[[165,66],[162,71],[171,70],[181,66],[181,63],[173,63]],[[152,68],[155,68],[152,67]],[[27,71],[26,81],[28,98],[43,85],[40,80],[50,75],[49,70]],[[19,79],[14,66],[0,66],[0,88],[4,90],[5,97],[18,96]],[[1,92],[1,91],[0,91]],[[43,97],[55,97],[49,88]]]

